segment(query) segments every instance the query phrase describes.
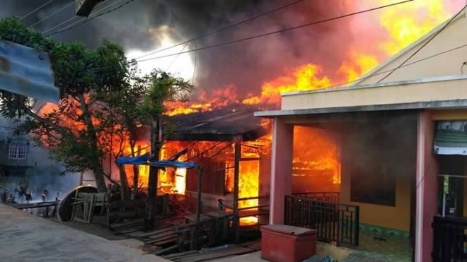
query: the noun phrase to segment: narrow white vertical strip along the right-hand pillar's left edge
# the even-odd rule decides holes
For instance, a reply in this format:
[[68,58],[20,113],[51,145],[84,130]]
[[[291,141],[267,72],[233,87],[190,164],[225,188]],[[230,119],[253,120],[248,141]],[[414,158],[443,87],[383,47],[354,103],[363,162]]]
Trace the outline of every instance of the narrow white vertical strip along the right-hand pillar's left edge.
[[425,160],[425,112],[421,112],[418,116],[418,131],[417,131],[417,213],[415,225],[415,262],[422,261],[422,231],[423,231],[423,174]]

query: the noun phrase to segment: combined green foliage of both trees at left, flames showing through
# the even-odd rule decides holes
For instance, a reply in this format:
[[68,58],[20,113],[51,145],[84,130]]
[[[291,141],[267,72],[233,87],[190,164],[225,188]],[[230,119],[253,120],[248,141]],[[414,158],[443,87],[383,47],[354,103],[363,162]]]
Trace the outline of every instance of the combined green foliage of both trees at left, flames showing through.
[[110,177],[103,169],[105,157],[122,155],[125,145],[134,145],[137,126],[160,119],[164,102],[185,101],[192,90],[187,81],[163,71],[139,76],[122,47],[112,42],[88,50],[79,42],[44,37],[18,18],[0,19],[0,39],[50,54],[61,96],[59,105],[37,112],[34,100],[0,90],[1,116],[21,119],[21,129],[47,146],[65,172],[91,169],[102,191],[103,177]]

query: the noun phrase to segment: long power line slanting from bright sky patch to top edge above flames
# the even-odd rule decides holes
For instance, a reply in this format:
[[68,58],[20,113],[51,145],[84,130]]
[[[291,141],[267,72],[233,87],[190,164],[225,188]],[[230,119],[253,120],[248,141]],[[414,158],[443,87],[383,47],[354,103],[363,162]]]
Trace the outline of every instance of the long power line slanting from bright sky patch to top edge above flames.
[[[248,41],[248,40],[253,40],[253,39],[256,39],[256,38],[260,38],[260,37],[265,37],[265,36],[268,36],[268,35],[275,35],[275,34],[278,34],[278,33],[281,33],[281,32],[287,32],[287,31],[290,31],[290,30],[305,28],[305,27],[311,26],[311,25],[318,25],[318,24],[321,24],[321,23],[326,23],[326,22],[330,22],[330,21],[333,21],[333,20],[338,20],[338,19],[341,19],[341,18],[356,16],[356,15],[359,15],[359,14],[362,14],[362,13],[368,13],[368,12],[376,11],[376,10],[379,10],[379,9],[382,9],[382,8],[388,8],[388,7],[391,7],[391,6],[396,6],[398,4],[405,4],[405,3],[408,3],[408,2],[411,2],[411,1],[414,1],[414,0],[400,1],[400,2],[397,2],[397,3],[394,3],[394,4],[387,4],[387,5],[384,5],[384,6],[379,6],[379,7],[363,10],[363,11],[358,11],[358,12],[354,12],[354,13],[347,13],[346,15],[343,15],[343,16],[336,16],[336,17],[333,17],[333,18],[318,20],[318,21],[311,22],[311,23],[306,23],[306,24],[303,24],[303,25],[297,25],[297,26],[294,26],[292,28],[284,28],[282,30],[266,32],[266,33],[261,34],[261,35],[253,35],[251,37],[245,37],[245,38],[241,38],[241,39],[238,39],[238,40],[223,42],[223,43],[220,43],[220,44],[213,44],[213,45],[210,45],[210,46],[207,46],[207,47],[200,47],[200,48],[197,48],[197,49],[191,49],[191,50],[188,50],[188,51],[181,52],[181,54],[187,54],[187,53],[190,53],[190,52],[202,51],[202,50],[211,49],[211,48],[214,48],[214,47],[222,47],[224,45],[236,44],[238,42],[245,42],[245,41]],[[142,60],[137,60],[137,61],[138,62],[149,61],[149,60],[153,60],[153,59],[161,59],[161,58],[165,58],[165,57],[169,57],[169,56],[176,56],[176,55],[178,55],[178,54],[166,54],[166,55],[163,55],[163,56],[156,56],[156,57],[151,57],[151,58],[148,58],[148,59],[142,59]]]

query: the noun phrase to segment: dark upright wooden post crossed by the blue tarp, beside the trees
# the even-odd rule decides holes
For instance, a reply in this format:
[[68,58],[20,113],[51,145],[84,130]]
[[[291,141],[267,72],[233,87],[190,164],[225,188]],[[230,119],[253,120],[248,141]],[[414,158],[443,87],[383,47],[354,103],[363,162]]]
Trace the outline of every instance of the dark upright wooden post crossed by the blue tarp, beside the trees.
[[[161,149],[161,120],[156,119],[151,123],[151,161],[159,160]],[[156,217],[157,198],[157,167],[149,167],[148,196],[146,200],[146,216],[144,217],[143,230],[152,230]]]

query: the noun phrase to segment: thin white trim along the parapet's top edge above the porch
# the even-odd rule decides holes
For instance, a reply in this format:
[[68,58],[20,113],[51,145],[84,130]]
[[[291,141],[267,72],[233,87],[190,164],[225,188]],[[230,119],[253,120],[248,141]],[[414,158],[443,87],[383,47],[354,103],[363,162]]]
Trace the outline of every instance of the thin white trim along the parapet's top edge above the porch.
[[296,91],[296,92],[289,92],[289,93],[282,93],[282,97],[292,96],[292,95],[306,95],[306,94],[314,94],[314,93],[327,93],[327,92],[336,92],[336,91],[345,91],[345,90],[359,90],[359,89],[367,89],[367,88],[384,88],[387,86],[395,86],[395,85],[414,85],[414,84],[421,84],[421,83],[436,83],[436,82],[446,82],[446,81],[458,81],[458,80],[466,80],[467,75],[453,75],[453,76],[437,76],[437,77],[429,77],[429,78],[418,78],[418,79],[410,79],[410,80],[403,80],[403,81],[395,81],[389,83],[376,83],[376,84],[369,84],[369,85],[351,85],[344,88],[323,88],[318,90],[309,90],[309,91]]

